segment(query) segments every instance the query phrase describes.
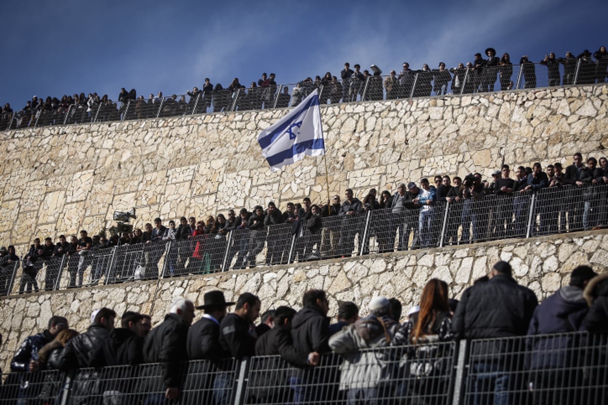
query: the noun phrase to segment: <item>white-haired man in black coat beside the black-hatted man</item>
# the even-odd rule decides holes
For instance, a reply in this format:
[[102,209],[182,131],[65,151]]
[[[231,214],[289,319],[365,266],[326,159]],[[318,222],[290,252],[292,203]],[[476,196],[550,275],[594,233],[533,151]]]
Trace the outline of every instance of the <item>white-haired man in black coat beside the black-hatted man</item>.
[[161,363],[165,395],[154,395],[159,402],[162,396],[168,400],[178,398],[183,372],[180,362],[188,359],[186,339],[193,319],[192,301],[178,298],[171,304],[164,322],[153,328],[143,342],[143,361]]

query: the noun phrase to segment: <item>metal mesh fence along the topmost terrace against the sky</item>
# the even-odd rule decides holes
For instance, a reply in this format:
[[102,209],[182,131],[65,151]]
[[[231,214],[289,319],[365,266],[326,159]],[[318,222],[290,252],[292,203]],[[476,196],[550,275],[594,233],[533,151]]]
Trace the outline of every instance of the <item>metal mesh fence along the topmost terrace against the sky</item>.
[[[599,68],[599,69],[598,69]],[[444,94],[471,94],[499,90],[534,89],[606,83],[607,72],[590,58],[560,58],[541,63],[507,64],[475,70],[454,67],[445,70],[410,70],[395,76],[373,76],[345,80],[302,81],[234,91],[214,90],[204,95],[173,95],[126,102],[72,104],[67,109],[17,111],[0,114],[0,131],[48,125],[95,121],[143,120],[206,112],[247,111],[295,106],[318,88],[320,103],[396,100]],[[291,89],[291,94],[285,92]],[[188,101],[187,101],[188,98]]]

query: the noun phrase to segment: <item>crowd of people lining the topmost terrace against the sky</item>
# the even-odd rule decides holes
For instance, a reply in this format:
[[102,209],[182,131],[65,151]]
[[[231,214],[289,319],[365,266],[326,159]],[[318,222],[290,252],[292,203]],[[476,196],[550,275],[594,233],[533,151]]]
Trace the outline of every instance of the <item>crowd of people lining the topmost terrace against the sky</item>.
[[[485,59],[487,58],[487,59]],[[565,57],[557,57],[551,52],[540,61],[547,67],[547,86],[563,86],[576,84],[604,83],[608,77],[608,52],[601,46],[593,53],[584,50],[578,56],[567,52]],[[563,66],[563,73],[559,66]],[[523,88],[536,87],[536,64],[527,55],[519,61],[522,70]],[[577,69],[578,67],[578,69]],[[193,87],[185,95],[173,94],[163,97],[162,92],[150,94],[146,99],[137,96],[137,91],[120,89],[117,100],[112,101],[108,95],[97,93],[63,95],[63,97],[47,97],[38,99],[32,97],[26,106],[14,112],[9,103],[5,103],[0,117],[0,130],[6,128],[26,128],[28,126],[44,126],[49,124],[85,123],[96,121],[112,121],[120,119],[145,119],[156,117],[173,117],[184,114],[206,113],[209,107],[213,112],[244,111],[263,108],[283,108],[297,105],[314,89],[320,90],[321,103],[345,103],[357,100],[387,100],[409,97],[429,97],[454,94],[494,91],[496,83],[500,90],[511,90],[513,84],[513,63],[510,55],[503,53],[498,57],[494,48],[485,50],[484,55],[475,53],[474,60],[466,64],[459,63],[457,67],[447,69],[440,62],[437,69],[430,69],[423,64],[422,69],[412,70],[407,62],[402,65],[401,72],[391,70],[388,76],[382,77],[382,71],[375,65],[369,70],[361,71],[359,64],[344,64],[340,77],[326,72],[323,77],[316,76],[313,80],[307,77],[297,83],[289,94],[288,86],[278,86],[275,73],[263,73],[257,81],[249,86],[234,78],[227,87],[209,78],[205,79],[202,89]],[[451,83],[451,86],[450,86]],[[278,89],[278,91],[277,91]],[[385,95],[384,95],[385,93]],[[189,100],[186,101],[186,96]]]

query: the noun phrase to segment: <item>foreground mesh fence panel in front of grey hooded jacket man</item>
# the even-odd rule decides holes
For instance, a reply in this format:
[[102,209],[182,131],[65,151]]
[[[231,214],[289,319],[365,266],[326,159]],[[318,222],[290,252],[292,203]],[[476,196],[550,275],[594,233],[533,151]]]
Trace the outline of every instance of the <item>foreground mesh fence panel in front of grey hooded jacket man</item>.
[[250,359],[246,403],[426,403],[451,400],[454,343],[327,353],[320,365],[280,356]]

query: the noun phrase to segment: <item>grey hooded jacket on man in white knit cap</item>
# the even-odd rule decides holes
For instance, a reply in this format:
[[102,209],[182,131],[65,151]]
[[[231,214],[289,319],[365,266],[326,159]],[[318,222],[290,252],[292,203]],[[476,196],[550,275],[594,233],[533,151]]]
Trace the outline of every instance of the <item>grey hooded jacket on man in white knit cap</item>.
[[389,346],[398,328],[389,316],[368,315],[331,336],[331,349],[345,359],[340,366],[340,390],[377,387],[392,379],[395,362],[389,351],[371,349]]

